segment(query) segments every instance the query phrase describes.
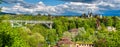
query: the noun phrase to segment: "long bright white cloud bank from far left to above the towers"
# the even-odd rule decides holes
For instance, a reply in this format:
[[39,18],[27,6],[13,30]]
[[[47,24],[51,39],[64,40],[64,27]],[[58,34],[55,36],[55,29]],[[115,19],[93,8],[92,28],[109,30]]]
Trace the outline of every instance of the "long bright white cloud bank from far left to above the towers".
[[[7,9],[6,9],[7,8]],[[44,3],[39,2],[38,4],[35,5],[34,8],[24,8],[21,6],[21,4],[17,4],[11,8],[9,7],[3,7],[2,12],[9,12],[9,13],[29,13],[29,14],[34,14],[34,13],[44,13],[44,14],[62,14],[65,11],[73,11],[76,13],[82,13],[86,12],[86,10],[92,9],[95,11],[97,7],[95,4],[87,4],[87,3],[75,3],[75,2],[70,2],[70,3],[65,3],[65,4],[60,4],[56,6],[46,6]],[[13,12],[11,12],[13,11]]]

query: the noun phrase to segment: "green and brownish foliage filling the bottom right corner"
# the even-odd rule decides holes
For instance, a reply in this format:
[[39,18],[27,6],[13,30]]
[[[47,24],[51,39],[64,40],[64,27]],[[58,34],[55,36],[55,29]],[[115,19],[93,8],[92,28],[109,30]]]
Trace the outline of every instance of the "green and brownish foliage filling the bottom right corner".
[[110,32],[107,35],[100,35],[99,39],[95,41],[95,47],[119,47],[120,37],[119,32]]

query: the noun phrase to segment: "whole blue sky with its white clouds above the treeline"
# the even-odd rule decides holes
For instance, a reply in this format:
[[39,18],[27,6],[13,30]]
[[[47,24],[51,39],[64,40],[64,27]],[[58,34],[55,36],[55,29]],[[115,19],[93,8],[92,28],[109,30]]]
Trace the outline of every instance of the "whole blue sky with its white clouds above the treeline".
[[2,12],[14,14],[81,15],[92,12],[120,16],[120,0],[3,0]]

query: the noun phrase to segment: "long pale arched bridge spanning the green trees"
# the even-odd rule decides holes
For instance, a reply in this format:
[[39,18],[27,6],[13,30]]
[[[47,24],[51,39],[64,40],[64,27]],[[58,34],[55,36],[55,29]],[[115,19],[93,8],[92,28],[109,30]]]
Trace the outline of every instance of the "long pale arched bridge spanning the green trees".
[[4,20],[4,21],[9,21],[12,27],[21,27],[22,25],[27,25],[27,24],[44,24],[48,28],[52,29],[52,25],[53,25],[52,21],[35,21],[35,20]]

